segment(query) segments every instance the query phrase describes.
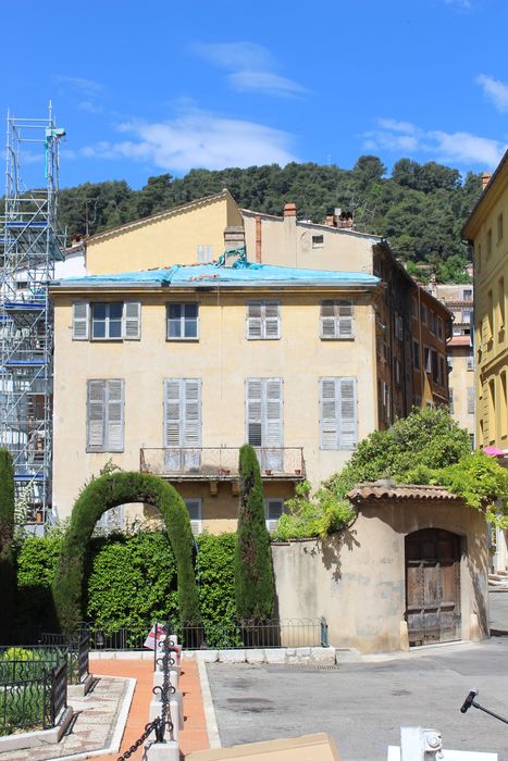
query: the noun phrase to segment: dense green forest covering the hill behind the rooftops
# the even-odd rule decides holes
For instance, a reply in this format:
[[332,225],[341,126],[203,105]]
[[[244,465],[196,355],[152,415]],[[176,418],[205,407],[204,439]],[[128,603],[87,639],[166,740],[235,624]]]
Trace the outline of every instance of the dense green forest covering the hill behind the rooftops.
[[458,170],[435,162],[400,159],[392,176],[380,159],[363,155],[352,170],[313,163],[191,170],[184,177],[149,177],[140,190],[124,180],[85,183],[61,191],[61,223],[69,236],[92,235],[222,188],[240,207],[271,214],[293,201],[298,217],[313,222],[330,208],[351,211],[355,227],[387,238],[410,271],[426,263],[439,282],[468,280],[460,228],[481,192],[481,176],[462,179]]

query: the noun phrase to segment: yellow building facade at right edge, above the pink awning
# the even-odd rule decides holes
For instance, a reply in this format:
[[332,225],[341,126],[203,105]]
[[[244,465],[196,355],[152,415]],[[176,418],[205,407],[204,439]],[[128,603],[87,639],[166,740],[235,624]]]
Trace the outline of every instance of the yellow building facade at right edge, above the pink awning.
[[474,249],[476,446],[508,453],[508,151],[462,235]]

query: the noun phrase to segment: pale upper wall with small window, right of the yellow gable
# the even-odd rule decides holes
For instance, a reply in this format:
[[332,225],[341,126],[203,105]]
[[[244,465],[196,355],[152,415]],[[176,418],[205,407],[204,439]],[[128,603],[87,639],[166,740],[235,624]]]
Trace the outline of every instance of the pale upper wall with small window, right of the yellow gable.
[[[241,211],[247,253],[256,260],[256,214]],[[295,216],[261,216],[261,261],[263,264],[309,270],[336,270],[372,274],[372,238],[351,230],[297,222]],[[312,235],[323,235],[323,246],[312,248]]]

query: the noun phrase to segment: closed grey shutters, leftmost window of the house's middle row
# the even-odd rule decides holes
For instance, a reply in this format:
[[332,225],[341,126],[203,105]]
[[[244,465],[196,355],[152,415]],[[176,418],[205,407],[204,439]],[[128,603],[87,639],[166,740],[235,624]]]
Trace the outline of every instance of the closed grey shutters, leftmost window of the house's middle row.
[[123,452],[124,382],[87,382],[87,452]]

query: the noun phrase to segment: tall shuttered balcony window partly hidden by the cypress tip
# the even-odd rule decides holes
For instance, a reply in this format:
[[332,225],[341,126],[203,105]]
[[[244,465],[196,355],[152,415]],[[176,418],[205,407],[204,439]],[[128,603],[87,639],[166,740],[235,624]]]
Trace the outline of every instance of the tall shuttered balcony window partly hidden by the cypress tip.
[[282,378],[247,378],[247,444],[261,450],[263,471],[283,470]]

